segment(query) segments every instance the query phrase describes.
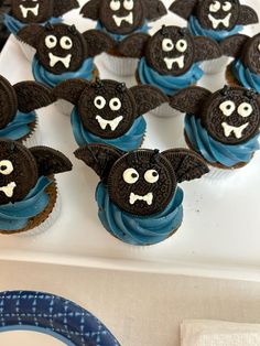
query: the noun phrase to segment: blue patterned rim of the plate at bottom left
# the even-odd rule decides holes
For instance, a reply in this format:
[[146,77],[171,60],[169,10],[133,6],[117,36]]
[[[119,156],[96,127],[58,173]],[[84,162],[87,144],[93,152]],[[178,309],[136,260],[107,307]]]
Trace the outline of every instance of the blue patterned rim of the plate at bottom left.
[[68,346],[119,346],[93,314],[48,293],[0,293],[0,332],[34,331],[52,335]]

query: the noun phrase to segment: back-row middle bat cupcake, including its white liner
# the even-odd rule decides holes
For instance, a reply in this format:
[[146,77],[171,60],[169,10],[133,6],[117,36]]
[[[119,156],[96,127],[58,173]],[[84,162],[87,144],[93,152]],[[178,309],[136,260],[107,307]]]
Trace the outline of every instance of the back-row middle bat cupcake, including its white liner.
[[121,55],[118,45],[134,32],[147,33],[148,23],[167,11],[159,0],[90,0],[82,9],[84,18],[97,21],[96,29],[108,33],[115,46],[104,58],[107,69],[116,75],[130,76],[137,69],[138,60]]

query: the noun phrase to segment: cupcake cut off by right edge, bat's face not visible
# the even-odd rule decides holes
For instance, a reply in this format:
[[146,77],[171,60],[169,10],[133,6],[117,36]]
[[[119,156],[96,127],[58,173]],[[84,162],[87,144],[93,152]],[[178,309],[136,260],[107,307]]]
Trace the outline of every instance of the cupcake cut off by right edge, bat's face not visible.
[[228,84],[260,93],[260,34],[227,37],[221,47],[225,55],[234,57],[226,69]]

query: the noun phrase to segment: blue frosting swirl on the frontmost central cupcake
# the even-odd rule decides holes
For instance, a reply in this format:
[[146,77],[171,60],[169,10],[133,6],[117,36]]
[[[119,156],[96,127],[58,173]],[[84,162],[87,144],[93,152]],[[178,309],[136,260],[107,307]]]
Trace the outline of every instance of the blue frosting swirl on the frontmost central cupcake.
[[96,191],[98,216],[115,237],[131,245],[153,245],[166,239],[183,219],[183,191],[177,187],[165,209],[151,216],[134,216],[110,201],[108,190],[99,183]]

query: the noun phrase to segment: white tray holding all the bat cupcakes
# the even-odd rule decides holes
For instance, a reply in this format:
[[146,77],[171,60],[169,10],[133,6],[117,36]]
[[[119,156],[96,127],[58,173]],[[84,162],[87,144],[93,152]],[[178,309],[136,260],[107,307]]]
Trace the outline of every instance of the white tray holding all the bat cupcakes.
[[[258,9],[260,12],[260,6]],[[68,21],[75,17],[77,11]],[[90,23],[78,22],[80,30]],[[169,14],[167,23],[184,21]],[[97,60],[101,77],[112,78],[101,60]],[[30,65],[13,37],[1,54],[0,74],[11,83],[32,79]],[[204,77],[201,85],[220,88],[223,75]],[[131,78],[126,82],[134,84]],[[177,140],[183,131],[181,118],[160,120],[148,115],[147,120],[144,147],[164,150],[182,144]],[[182,184],[185,216],[180,230],[160,245],[139,248],[118,241],[101,227],[94,198],[98,177],[74,159],[76,143],[69,118],[50,106],[40,111],[40,126],[44,143],[62,150],[74,163],[73,172],[57,176],[63,213],[54,227],[40,236],[1,236],[0,259],[260,281],[260,153],[224,183],[203,179]]]

